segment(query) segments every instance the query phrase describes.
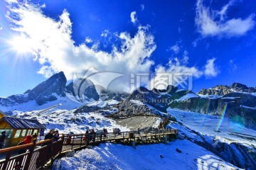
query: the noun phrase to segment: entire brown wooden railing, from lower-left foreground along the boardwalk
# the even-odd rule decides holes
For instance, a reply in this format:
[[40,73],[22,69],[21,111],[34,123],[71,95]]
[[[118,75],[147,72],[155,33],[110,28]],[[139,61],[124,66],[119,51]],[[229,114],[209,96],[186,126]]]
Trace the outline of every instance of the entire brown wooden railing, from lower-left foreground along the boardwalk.
[[[60,153],[65,153],[68,150],[82,149],[87,145],[95,145],[100,142],[107,142],[112,140],[135,140],[140,137],[160,137],[164,135],[176,135],[178,130],[151,130],[151,131],[132,131],[132,132],[110,132],[105,137],[104,134],[61,134],[60,140],[53,142],[53,140],[43,140],[31,144],[20,145],[16,147],[9,147],[0,149],[0,155],[5,154],[5,159],[0,160],[0,170],[6,169],[40,169],[46,165],[47,162],[58,156]],[[38,137],[38,140],[44,137]],[[44,146],[43,146],[44,145]],[[18,154],[19,149],[25,149],[27,152]]]

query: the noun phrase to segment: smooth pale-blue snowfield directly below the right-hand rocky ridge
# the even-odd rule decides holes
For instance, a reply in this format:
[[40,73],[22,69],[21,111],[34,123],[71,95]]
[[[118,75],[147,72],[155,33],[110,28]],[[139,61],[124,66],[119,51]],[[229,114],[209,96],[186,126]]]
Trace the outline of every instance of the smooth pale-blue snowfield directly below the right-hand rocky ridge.
[[207,135],[212,142],[213,140],[220,140],[227,143],[241,142],[247,145],[255,145],[256,143],[255,130],[245,128],[244,125],[235,123],[229,118],[179,111],[171,108],[167,111],[188,128],[200,132],[201,135]]

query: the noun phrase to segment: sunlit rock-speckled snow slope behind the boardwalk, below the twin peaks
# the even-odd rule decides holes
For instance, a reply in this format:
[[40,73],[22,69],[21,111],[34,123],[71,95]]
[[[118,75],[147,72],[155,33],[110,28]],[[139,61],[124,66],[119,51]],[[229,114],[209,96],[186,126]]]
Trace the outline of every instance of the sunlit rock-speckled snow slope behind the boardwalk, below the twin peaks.
[[119,128],[122,131],[129,131],[129,128],[117,125],[115,120],[105,118],[98,113],[74,113],[74,110],[43,109],[41,111],[18,112],[20,118],[36,118],[40,123],[46,125],[48,130],[55,129],[60,133],[74,132],[85,133],[85,130],[94,128],[95,130],[112,131],[112,128]]

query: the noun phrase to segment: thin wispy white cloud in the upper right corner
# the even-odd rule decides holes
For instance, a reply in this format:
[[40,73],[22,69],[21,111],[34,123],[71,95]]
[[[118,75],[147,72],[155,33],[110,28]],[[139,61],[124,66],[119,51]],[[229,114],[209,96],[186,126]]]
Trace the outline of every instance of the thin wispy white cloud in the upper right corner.
[[229,1],[223,6],[220,11],[211,9],[203,5],[203,0],[198,0],[196,4],[196,27],[198,33],[204,37],[207,36],[241,36],[245,35],[249,30],[255,26],[253,21],[254,14],[247,16],[247,18],[231,18],[227,19],[227,11],[232,6],[234,1]]

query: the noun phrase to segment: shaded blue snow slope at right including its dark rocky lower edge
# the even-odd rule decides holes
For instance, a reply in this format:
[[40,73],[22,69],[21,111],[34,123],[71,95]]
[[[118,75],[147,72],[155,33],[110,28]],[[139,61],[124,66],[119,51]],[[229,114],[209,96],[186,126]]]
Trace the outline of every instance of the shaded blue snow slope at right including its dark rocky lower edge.
[[170,126],[179,136],[217,154],[243,169],[256,169],[256,132],[234,123],[229,118],[168,109],[178,123]]

